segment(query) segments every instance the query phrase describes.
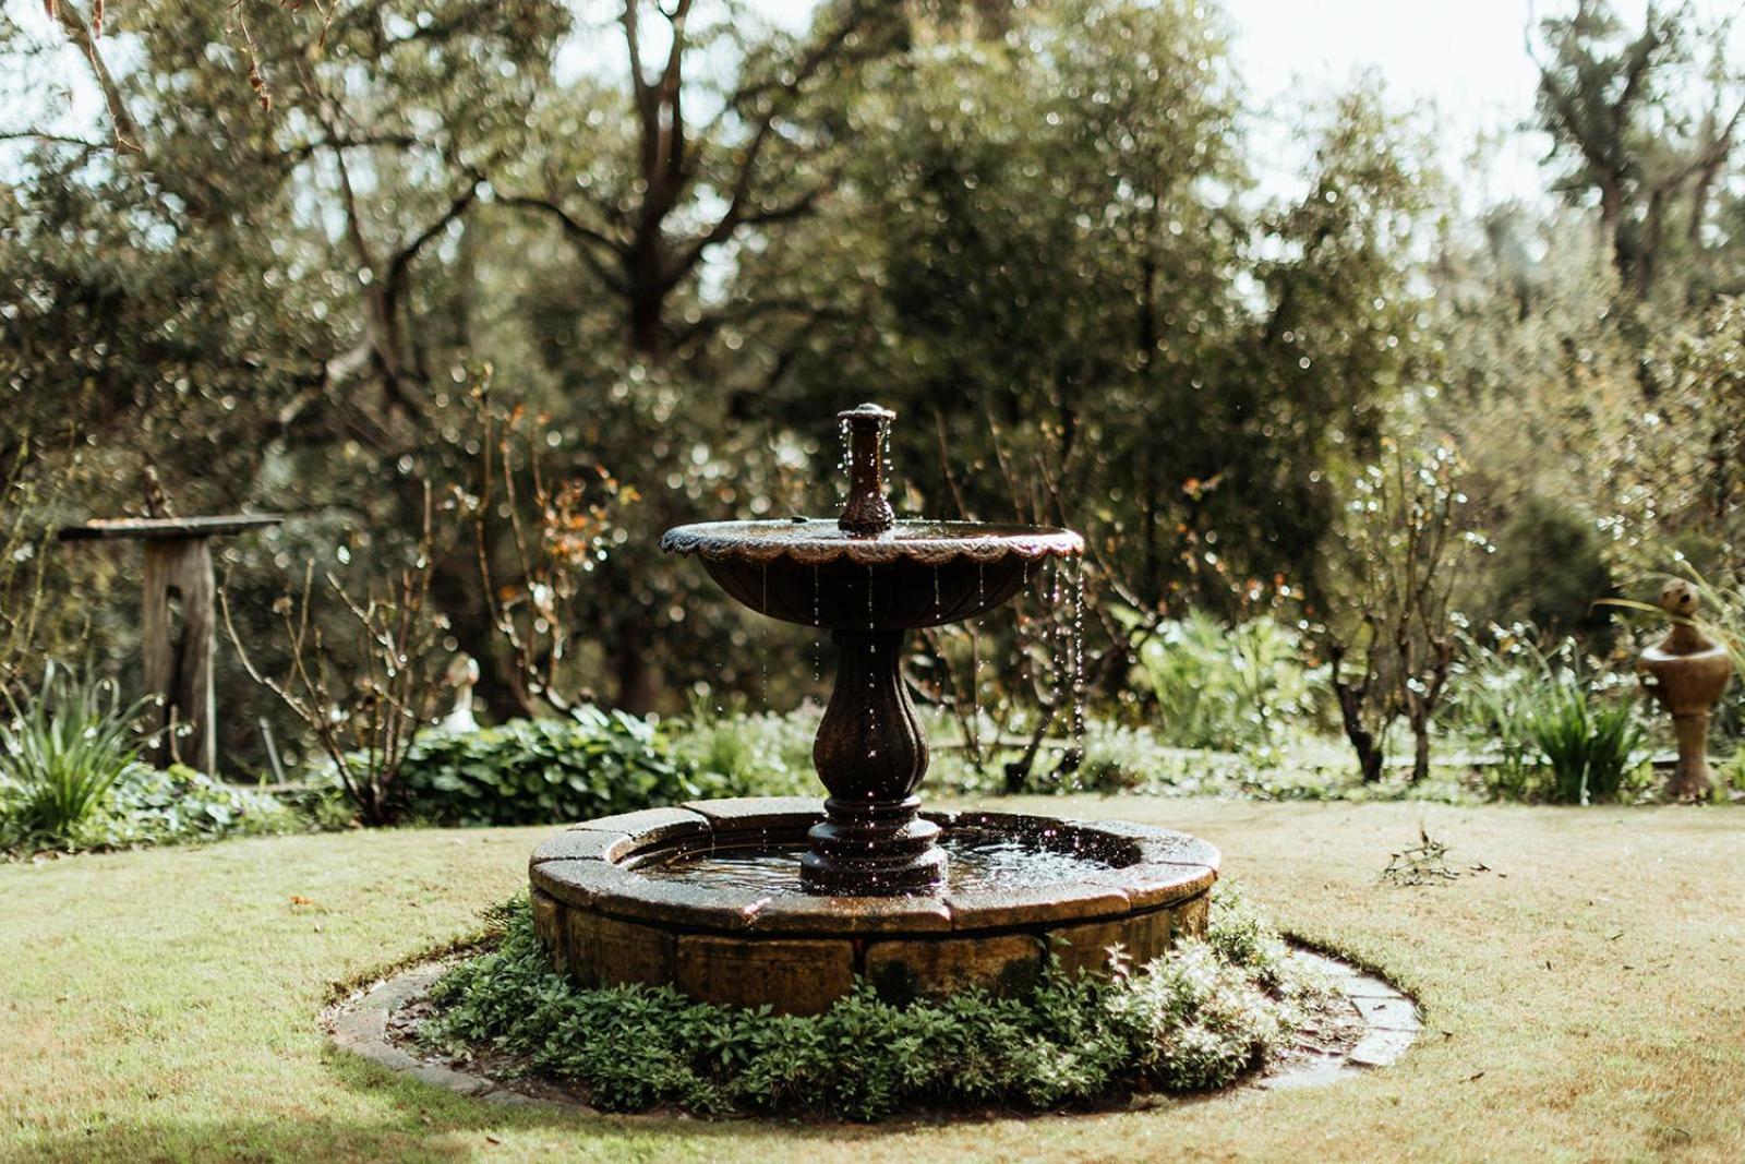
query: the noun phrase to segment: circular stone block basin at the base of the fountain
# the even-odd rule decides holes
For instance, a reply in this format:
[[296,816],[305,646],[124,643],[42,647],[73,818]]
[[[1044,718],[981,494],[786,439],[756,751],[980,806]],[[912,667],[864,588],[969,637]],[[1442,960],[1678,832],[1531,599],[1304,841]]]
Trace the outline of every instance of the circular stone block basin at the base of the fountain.
[[886,998],[1023,993],[1052,951],[1148,962],[1206,927],[1218,850],[1185,832],[1017,813],[923,813],[951,857],[916,897],[799,890],[820,799],[695,801],[602,817],[534,850],[534,925],[583,986],[672,984],[703,1002],[817,1014],[857,976]]

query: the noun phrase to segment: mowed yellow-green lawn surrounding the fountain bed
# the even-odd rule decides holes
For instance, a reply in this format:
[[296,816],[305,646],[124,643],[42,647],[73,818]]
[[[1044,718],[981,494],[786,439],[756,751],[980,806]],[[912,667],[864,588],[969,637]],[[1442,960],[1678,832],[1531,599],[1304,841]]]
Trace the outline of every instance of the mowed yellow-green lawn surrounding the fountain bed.
[[[548,829],[269,838],[0,867],[0,1157],[1745,1159],[1745,810],[998,806],[1213,839],[1288,930],[1417,993],[1426,1037],[1330,1087],[1094,1115],[494,1106],[332,1051],[318,1012],[335,983],[469,932]],[[1379,885],[1420,822],[1490,871]]]

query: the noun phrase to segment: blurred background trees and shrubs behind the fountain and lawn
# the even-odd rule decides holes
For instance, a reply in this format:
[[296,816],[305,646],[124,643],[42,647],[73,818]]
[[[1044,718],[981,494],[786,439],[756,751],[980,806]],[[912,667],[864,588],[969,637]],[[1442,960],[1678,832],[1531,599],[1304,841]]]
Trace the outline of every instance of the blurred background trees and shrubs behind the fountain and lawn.
[[[1363,80],[1290,110],[1307,169],[1260,183],[1208,0],[24,7],[0,61],[72,44],[103,117],[0,126],[17,693],[49,656],[136,688],[136,550],[51,534],[141,513],[150,468],[180,513],[288,515],[220,546],[265,672],[309,564],[365,593],[428,555],[485,719],[785,714],[810,635],[656,543],[832,513],[860,400],[899,412],[899,511],[1087,536],[1099,771],[1288,719],[1495,740],[1457,689],[1494,625],[1616,658],[1597,600],[1745,565],[1745,92],[1684,9],[1544,5],[1550,197],[1475,209]],[[921,644],[967,733],[1047,686],[1035,590]],[[237,771],[260,717],[312,750],[218,665]]]

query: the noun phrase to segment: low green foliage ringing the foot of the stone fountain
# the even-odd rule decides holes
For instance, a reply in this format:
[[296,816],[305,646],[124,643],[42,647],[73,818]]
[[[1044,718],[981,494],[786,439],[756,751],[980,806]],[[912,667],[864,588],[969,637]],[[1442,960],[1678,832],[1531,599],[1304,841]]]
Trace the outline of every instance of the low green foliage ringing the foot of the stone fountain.
[[551,970],[525,899],[503,941],[450,970],[422,1037],[522,1056],[592,1103],[701,1113],[804,1108],[874,1120],[916,1105],[1049,1108],[1129,1087],[1230,1084],[1283,1045],[1310,984],[1220,890],[1204,939],[1110,981],[1047,976],[1026,998],[892,1005],[871,986],[813,1017],[698,1003],[674,988],[579,989]]

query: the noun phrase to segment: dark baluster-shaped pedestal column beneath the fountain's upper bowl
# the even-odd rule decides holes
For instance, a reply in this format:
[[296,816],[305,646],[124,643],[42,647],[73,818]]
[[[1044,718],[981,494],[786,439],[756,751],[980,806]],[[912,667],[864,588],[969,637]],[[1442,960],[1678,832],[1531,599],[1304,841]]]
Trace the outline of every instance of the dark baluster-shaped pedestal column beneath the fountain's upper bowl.
[[946,876],[939,825],[920,818],[927,736],[902,682],[902,632],[838,630],[836,686],[811,763],[831,796],[806,834],[813,894],[914,894]]

